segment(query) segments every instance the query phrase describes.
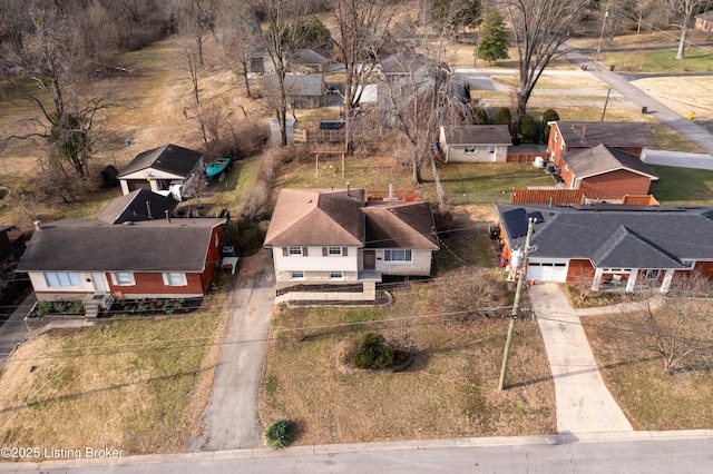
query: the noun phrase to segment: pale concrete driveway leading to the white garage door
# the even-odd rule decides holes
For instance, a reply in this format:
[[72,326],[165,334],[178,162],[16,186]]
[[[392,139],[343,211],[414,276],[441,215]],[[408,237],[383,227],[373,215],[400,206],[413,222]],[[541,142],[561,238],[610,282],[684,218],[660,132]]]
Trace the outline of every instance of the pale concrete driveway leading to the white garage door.
[[633,431],[604,385],[579,315],[555,283],[529,287],[555,378],[558,433]]

